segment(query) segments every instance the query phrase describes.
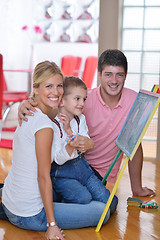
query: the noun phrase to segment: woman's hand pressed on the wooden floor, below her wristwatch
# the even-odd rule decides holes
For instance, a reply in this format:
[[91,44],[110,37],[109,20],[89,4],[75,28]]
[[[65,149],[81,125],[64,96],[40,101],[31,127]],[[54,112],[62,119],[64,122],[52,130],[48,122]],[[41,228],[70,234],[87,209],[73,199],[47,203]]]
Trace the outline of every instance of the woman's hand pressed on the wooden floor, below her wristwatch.
[[53,226],[47,229],[45,237],[49,240],[65,240],[65,235],[63,234],[63,230],[59,229],[59,227]]

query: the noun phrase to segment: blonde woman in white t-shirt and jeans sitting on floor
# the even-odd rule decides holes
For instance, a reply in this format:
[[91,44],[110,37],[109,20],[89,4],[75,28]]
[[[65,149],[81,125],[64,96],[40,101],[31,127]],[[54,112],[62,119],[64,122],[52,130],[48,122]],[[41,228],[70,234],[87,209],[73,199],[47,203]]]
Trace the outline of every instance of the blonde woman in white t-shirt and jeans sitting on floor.
[[[96,226],[105,204],[53,203],[50,178],[53,122],[63,94],[63,74],[54,62],[39,63],[33,74],[34,117],[17,127],[11,170],[2,192],[2,207],[19,228],[46,231],[47,239],[64,240],[63,229]],[[62,183],[63,184],[63,183]],[[106,216],[105,222],[109,218]],[[57,224],[56,224],[56,222]],[[59,227],[60,228],[59,228]]]

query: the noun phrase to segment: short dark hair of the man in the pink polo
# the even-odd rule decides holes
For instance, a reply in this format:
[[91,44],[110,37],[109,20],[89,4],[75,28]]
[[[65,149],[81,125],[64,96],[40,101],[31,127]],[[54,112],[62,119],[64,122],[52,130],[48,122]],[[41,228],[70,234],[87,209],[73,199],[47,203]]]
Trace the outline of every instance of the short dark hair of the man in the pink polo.
[[106,65],[123,67],[127,74],[128,63],[127,58],[118,49],[108,49],[104,51],[98,59],[98,71],[102,74],[102,71]]

